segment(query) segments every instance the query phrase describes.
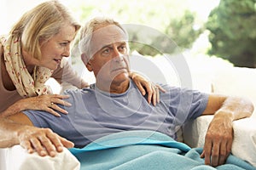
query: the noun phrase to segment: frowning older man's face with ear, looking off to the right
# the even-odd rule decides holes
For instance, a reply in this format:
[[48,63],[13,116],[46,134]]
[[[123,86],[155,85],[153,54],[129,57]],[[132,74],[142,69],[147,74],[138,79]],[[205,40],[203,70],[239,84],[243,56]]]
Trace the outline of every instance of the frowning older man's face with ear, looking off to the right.
[[95,31],[90,47],[93,57],[86,66],[94,71],[97,85],[109,89],[111,84],[129,80],[127,37],[119,26],[105,26]]

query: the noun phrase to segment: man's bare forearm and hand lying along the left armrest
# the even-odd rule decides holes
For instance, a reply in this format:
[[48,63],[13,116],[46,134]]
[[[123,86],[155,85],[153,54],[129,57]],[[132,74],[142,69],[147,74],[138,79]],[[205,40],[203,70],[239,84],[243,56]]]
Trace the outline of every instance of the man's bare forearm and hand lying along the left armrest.
[[73,143],[53,133],[49,128],[33,127],[23,113],[0,119],[0,148],[20,144],[28,153],[36,150],[39,156],[55,156],[63,147]]

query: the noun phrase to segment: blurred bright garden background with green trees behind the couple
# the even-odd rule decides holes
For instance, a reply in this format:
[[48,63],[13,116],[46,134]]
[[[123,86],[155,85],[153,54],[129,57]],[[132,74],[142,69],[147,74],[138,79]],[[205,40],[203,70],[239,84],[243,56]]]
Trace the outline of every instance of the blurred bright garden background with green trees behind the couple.
[[[0,33],[9,31],[26,10],[44,0],[1,0]],[[190,59],[224,59],[230,65],[256,67],[256,0],[61,0],[81,23],[97,14],[107,14],[121,23],[151,27],[172,39],[151,35],[151,42],[131,44],[139,54],[155,57],[159,47],[183,53]],[[130,37],[136,40],[137,32]]]

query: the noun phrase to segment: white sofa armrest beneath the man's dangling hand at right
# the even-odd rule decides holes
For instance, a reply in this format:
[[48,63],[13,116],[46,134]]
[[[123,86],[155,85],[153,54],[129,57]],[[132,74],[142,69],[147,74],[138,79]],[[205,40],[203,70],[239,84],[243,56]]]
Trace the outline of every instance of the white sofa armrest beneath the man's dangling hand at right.
[[[200,116],[183,126],[184,143],[190,147],[203,147],[212,116]],[[234,140],[231,153],[256,167],[256,119],[245,118],[233,122]]]

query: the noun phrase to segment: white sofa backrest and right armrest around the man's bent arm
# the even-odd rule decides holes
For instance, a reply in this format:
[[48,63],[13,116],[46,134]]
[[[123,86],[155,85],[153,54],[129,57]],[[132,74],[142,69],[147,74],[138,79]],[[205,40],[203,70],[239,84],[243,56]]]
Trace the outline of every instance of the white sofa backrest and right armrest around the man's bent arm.
[[[141,71],[153,82],[163,80],[157,77],[157,73],[152,74],[152,71],[159,69],[165,77],[164,81],[175,86],[251,99],[255,108],[253,116],[233,124],[235,139],[232,154],[256,167],[256,69],[234,67],[223,59],[204,55],[186,58],[183,54],[178,54],[154,59],[144,59],[143,56],[136,54],[136,57],[138,56],[142,59],[131,58],[131,68]],[[142,68],[142,65],[147,65],[149,69]],[[186,72],[185,69],[189,69],[186,74],[183,73]],[[183,77],[186,80],[183,80]],[[201,116],[195,121],[186,123],[178,131],[179,140],[189,144],[190,147],[202,147],[211,120],[212,116]]]

